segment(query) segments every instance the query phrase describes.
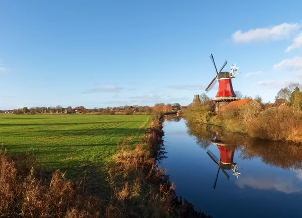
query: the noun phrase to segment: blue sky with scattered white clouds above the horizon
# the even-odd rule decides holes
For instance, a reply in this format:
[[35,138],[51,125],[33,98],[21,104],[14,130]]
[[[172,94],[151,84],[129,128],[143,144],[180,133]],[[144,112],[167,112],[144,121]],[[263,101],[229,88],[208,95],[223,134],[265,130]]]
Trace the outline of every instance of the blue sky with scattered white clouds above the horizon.
[[[265,102],[302,82],[302,1],[1,1],[0,109],[192,102],[236,63]],[[208,93],[215,97],[217,85]]]

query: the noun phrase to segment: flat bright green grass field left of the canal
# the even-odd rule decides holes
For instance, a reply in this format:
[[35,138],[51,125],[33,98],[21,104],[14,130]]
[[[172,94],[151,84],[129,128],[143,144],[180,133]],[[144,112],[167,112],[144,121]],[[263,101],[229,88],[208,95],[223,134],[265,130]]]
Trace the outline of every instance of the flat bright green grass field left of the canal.
[[104,174],[117,144],[127,137],[137,143],[150,122],[144,115],[0,115],[0,142],[11,154],[32,150],[38,166],[49,172],[83,177]]

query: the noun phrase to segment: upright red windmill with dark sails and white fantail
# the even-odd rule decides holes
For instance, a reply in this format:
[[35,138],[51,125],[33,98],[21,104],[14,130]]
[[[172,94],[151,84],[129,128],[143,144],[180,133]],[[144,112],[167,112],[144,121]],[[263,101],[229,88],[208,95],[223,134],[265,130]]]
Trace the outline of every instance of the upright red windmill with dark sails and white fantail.
[[217,111],[220,108],[223,108],[226,105],[228,105],[230,102],[237,100],[236,94],[233,90],[231,79],[235,78],[235,72],[239,67],[237,67],[235,63],[234,65],[231,66],[230,72],[227,71],[222,72],[222,69],[228,63],[228,61],[225,60],[218,72],[212,54],[210,55],[210,58],[216,70],[216,77],[214,77],[214,79],[210,82],[210,84],[207,86],[205,91],[206,93],[208,93],[217,83],[217,80],[219,81],[218,91],[215,98],[213,99],[213,101],[215,102],[215,111]]

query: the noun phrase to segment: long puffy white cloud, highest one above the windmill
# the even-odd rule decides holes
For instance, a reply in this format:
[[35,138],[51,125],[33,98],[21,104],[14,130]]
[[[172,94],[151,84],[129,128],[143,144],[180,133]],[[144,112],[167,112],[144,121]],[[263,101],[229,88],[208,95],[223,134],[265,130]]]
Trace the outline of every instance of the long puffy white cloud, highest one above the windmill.
[[233,33],[232,39],[234,42],[239,43],[249,43],[252,41],[276,41],[287,38],[298,28],[298,23],[283,23],[271,28],[258,28],[247,32],[238,30]]

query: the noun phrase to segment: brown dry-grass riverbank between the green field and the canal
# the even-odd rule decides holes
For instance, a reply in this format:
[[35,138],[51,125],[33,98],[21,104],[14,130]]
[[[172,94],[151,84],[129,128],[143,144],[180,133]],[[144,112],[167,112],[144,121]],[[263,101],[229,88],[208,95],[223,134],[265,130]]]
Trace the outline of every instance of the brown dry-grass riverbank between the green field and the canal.
[[91,173],[72,181],[65,177],[69,171],[66,174],[57,170],[52,178],[45,177],[34,153],[8,155],[3,148],[0,152],[0,214],[174,218],[187,217],[193,212],[198,217],[191,204],[177,202],[174,184],[157,165],[164,154],[163,136],[162,122],[154,120],[135,148],[131,137],[124,137],[107,165],[108,191],[91,187],[94,179]]

